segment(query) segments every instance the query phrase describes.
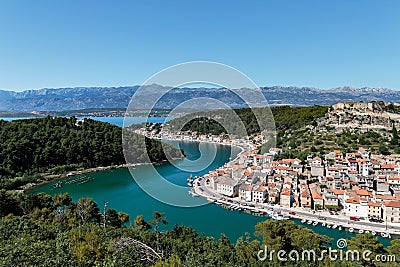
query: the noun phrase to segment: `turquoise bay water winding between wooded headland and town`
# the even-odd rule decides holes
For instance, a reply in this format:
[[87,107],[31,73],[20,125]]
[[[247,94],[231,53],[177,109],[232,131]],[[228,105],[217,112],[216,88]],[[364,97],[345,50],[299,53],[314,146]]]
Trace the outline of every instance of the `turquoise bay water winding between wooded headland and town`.
[[[97,118],[93,118],[97,119]],[[138,119],[138,123],[143,122],[144,118]],[[101,118],[101,121],[106,121],[121,126],[123,118]],[[161,122],[161,121],[159,121]],[[173,143],[177,145],[177,143]],[[206,169],[197,172],[182,171],[179,168],[187,168],[191,164],[191,160],[196,160],[200,156],[199,145],[194,142],[181,142],[180,147],[185,151],[187,159],[175,162],[175,166],[164,163],[156,165],[157,172],[168,181],[186,186],[186,179],[190,174],[203,175],[209,170],[213,170],[222,166],[229,161],[230,157],[234,157],[239,151],[238,149],[232,150],[228,146],[218,145],[215,160]],[[207,159],[208,150],[212,149],[213,145],[205,147],[203,156]],[[158,180],[151,174],[151,166],[138,166],[133,170],[133,174],[137,177],[144,178],[146,183],[150,183],[156,190],[163,190],[160,187]],[[93,198],[100,208],[104,201],[108,202],[109,208],[114,208],[117,211],[124,211],[129,214],[130,220],[133,221],[135,217],[142,214],[146,220],[152,219],[153,211],[159,211],[166,214],[166,219],[169,224],[164,229],[171,229],[175,224],[186,225],[196,229],[199,233],[204,233],[207,236],[219,238],[221,233],[224,233],[231,241],[236,239],[245,232],[250,234],[254,233],[254,226],[258,222],[268,219],[267,217],[258,217],[242,213],[239,211],[226,210],[215,204],[207,204],[194,208],[175,207],[164,204],[147,195],[132,178],[128,169],[109,170],[97,173],[86,174],[86,177],[94,178],[93,180],[78,184],[67,184],[68,180],[79,178],[82,176],[75,176],[65,179],[62,188],[53,189],[52,184],[43,185],[33,189],[31,192],[46,192],[51,195],[58,193],[68,192],[74,200],[81,197]],[[189,188],[188,188],[189,191]],[[174,194],[174,192],[170,192]],[[181,197],[182,203],[198,203],[204,202],[204,199],[193,198],[189,194]],[[301,225],[299,220],[295,220],[297,224]],[[336,246],[336,241],[339,238],[351,238],[355,234],[346,231],[339,231],[337,229],[328,229],[326,227],[310,225],[303,225],[316,233],[327,235],[333,238],[332,244]],[[379,237],[380,241],[385,245],[389,245],[390,240]]]

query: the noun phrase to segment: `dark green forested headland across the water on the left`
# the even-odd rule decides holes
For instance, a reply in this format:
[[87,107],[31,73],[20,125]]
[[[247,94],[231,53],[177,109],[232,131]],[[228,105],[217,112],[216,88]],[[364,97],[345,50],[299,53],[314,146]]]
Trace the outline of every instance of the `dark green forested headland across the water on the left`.
[[[142,162],[142,137],[129,133],[129,148]],[[17,188],[37,182],[45,174],[113,166],[125,163],[122,129],[109,123],[76,118],[46,117],[6,122],[0,120],[0,188]],[[143,143],[144,144],[144,143]],[[166,159],[161,143],[146,139],[150,160]],[[169,148],[171,154],[180,151]]]

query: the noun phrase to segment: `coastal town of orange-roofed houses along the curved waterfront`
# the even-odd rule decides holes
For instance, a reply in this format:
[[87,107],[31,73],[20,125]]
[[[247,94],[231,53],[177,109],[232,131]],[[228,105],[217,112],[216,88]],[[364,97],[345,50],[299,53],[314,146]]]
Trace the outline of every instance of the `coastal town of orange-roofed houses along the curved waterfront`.
[[331,151],[323,158],[276,156],[282,148],[260,154],[263,142],[230,140],[225,135],[172,133],[141,128],[150,138],[213,142],[242,149],[236,158],[209,173],[188,179],[193,196],[236,210],[294,218],[349,232],[371,232],[391,237],[400,234],[400,155],[378,155],[359,147],[344,153]]

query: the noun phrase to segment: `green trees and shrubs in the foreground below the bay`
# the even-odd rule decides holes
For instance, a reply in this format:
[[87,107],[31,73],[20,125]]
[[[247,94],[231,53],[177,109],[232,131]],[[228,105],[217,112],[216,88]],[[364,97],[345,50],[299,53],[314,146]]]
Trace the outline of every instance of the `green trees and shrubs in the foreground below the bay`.
[[[165,228],[168,214],[157,211],[151,218],[139,215],[130,225],[128,221],[126,213],[114,209],[104,212],[90,198],[72,201],[68,194],[52,197],[0,190],[0,266],[361,266],[328,259],[281,262],[276,253],[271,260],[259,261],[257,253],[264,245],[268,252],[314,249],[319,253],[330,242],[293,221],[260,222],[255,226],[255,237],[244,234],[236,242],[224,235],[207,237],[186,226]],[[145,258],[141,257],[143,249],[132,245],[132,240],[162,259],[141,260]],[[386,249],[371,234],[358,235],[348,243],[352,249],[399,256],[398,239]]]

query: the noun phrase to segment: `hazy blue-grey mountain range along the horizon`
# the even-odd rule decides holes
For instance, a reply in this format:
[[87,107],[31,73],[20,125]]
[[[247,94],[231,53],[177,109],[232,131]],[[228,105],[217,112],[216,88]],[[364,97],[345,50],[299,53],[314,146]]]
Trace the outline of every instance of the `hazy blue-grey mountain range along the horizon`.
[[[63,111],[87,108],[126,108],[139,86],[131,87],[76,87],[59,89],[27,90],[23,92],[0,90],[0,111],[33,112]],[[160,85],[149,85],[146,94],[160,90]],[[312,87],[262,87],[271,106],[331,105],[342,101],[400,102],[400,91],[386,88],[339,87],[321,90]],[[249,90],[251,89],[240,89]],[[242,107],[244,102],[224,88],[174,88],[156,105],[157,108],[173,108],[182,101],[194,97],[210,97],[232,107]],[[146,104],[146,103],[143,103]],[[205,108],[212,108],[205,107]]]

